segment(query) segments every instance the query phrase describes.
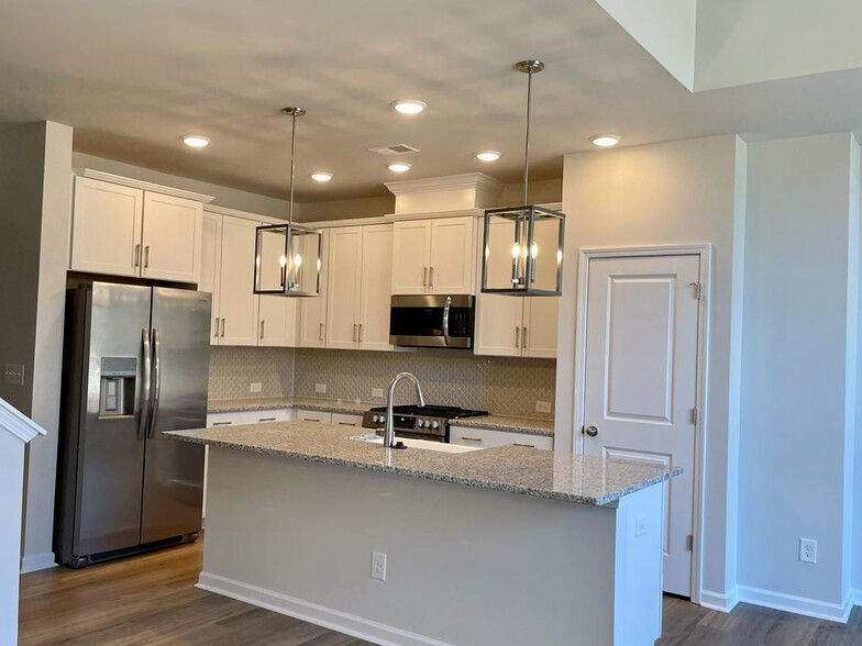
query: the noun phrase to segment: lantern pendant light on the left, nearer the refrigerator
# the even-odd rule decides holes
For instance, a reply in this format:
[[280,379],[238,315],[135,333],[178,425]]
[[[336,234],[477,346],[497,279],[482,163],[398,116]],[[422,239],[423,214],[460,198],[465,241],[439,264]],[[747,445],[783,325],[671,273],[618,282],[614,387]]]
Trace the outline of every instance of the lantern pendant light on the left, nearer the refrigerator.
[[294,224],[296,120],[302,108],[285,108],[291,118],[290,198],[287,223],[258,226],[254,249],[254,293],[281,297],[319,297],[323,261],[323,234]]

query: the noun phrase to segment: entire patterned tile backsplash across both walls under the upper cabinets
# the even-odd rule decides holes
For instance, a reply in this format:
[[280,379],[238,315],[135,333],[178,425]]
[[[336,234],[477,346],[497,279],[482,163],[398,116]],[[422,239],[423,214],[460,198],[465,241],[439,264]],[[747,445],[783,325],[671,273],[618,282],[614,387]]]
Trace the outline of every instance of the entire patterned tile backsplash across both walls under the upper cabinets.
[[[477,357],[468,352],[420,349],[368,352],[318,348],[212,347],[210,399],[243,397],[321,397],[380,402],[400,371],[413,372],[429,403],[460,405],[499,415],[552,419],[538,413],[535,402],[554,402],[556,361]],[[250,392],[259,382],[261,392]],[[316,386],[324,383],[325,394]],[[409,385],[399,386],[397,402],[412,402]]]

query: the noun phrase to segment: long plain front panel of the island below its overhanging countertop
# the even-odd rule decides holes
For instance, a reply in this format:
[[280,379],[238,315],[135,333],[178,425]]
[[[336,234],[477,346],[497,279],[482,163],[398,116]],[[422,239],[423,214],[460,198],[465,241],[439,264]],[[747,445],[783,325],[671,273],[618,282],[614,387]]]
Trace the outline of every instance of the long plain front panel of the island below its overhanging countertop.
[[206,589],[394,644],[614,643],[617,509],[219,447],[209,468]]

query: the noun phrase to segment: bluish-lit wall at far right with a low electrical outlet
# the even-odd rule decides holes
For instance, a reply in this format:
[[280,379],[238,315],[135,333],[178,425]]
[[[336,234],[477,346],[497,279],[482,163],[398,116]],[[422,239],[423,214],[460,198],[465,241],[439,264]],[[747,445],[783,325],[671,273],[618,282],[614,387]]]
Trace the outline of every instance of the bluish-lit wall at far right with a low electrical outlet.
[[740,597],[833,619],[850,592],[858,189],[849,133],[749,146]]

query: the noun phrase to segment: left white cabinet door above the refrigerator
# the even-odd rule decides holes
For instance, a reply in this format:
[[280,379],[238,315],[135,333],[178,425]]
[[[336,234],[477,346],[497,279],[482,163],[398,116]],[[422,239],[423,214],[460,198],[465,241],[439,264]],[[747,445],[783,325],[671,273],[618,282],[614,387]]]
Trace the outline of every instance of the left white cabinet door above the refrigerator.
[[70,269],[139,276],[143,216],[141,189],[76,177]]

